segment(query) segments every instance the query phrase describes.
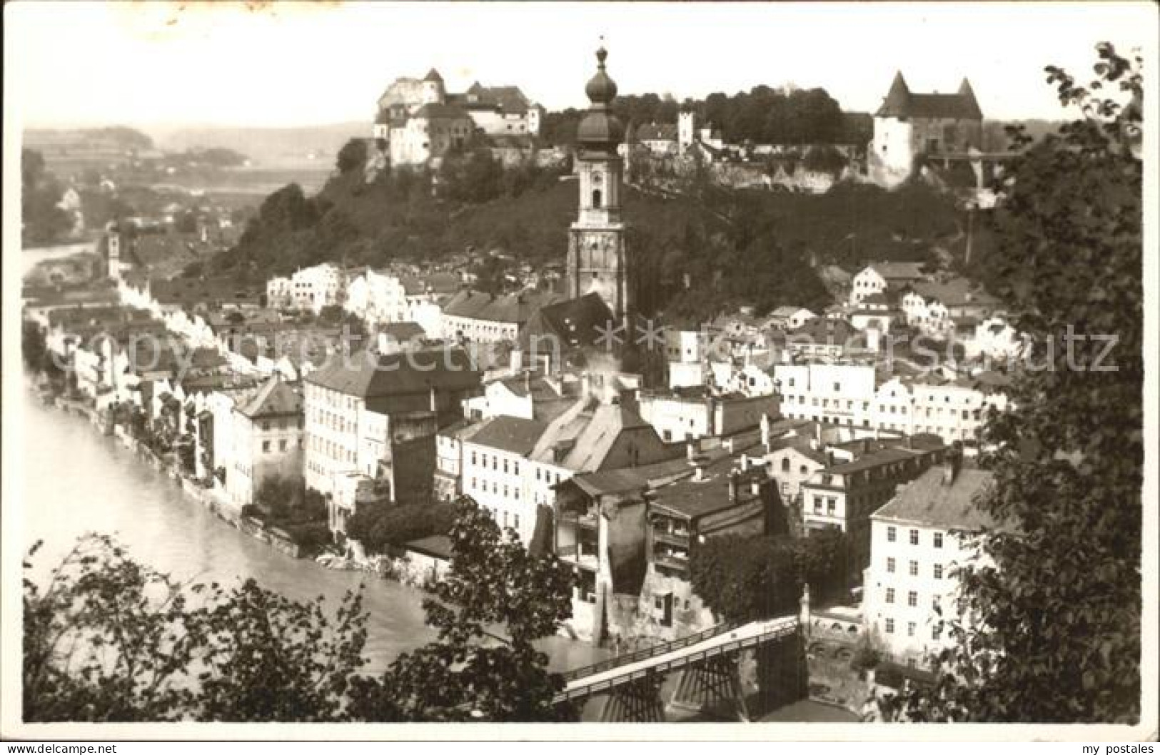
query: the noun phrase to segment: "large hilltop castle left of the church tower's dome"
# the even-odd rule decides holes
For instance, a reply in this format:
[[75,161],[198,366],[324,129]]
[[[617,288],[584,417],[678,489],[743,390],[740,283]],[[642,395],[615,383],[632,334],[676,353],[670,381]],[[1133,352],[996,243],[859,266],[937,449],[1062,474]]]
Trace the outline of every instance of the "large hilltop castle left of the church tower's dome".
[[399,78],[378,99],[371,136],[385,143],[392,165],[426,165],[473,136],[530,141],[544,109],[520,87],[485,87],[449,94],[432,68],[420,79]]

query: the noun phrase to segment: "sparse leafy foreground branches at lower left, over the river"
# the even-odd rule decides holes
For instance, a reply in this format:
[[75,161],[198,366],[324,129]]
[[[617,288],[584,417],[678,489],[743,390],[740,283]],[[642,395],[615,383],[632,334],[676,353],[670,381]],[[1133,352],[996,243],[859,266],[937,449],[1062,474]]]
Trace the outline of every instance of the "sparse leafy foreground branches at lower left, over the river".
[[340,720],[365,641],[354,594],[332,622],[252,580],[176,583],[107,536],[45,589],[26,576],[23,609],[27,721]]

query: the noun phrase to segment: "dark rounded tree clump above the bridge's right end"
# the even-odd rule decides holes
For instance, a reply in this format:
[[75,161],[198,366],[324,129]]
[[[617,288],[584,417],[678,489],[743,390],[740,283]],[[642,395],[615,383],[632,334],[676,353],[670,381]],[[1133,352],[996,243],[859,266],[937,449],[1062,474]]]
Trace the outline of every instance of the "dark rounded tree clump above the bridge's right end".
[[712,538],[694,551],[693,588],[713,615],[726,622],[751,622],[797,614],[802,587],[821,597],[846,576],[846,542],[839,531],[807,538]]

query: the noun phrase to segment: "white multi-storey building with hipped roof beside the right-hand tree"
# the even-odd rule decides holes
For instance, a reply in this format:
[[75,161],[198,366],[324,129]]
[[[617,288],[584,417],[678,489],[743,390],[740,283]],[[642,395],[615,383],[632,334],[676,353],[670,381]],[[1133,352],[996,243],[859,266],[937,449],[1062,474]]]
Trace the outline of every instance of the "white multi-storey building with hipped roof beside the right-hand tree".
[[991,485],[989,472],[944,462],[871,515],[864,616],[871,641],[897,662],[926,666],[954,644],[943,623],[962,618],[954,572],[977,557],[971,535],[992,527],[973,503]]

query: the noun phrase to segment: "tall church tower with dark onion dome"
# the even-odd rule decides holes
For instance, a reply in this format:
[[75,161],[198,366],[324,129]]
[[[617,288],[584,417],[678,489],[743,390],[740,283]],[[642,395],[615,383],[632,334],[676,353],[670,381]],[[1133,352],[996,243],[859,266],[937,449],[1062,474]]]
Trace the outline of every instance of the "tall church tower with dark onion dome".
[[617,320],[632,308],[621,189],[624,166],[617,147],[624,125],[612,115],[616,82],[604,72],[608,52],[596,51],[596,75],[585,92],[592,107],[577,128],[577,172],[580,208],[568,233],[567,295],[596,292]]

